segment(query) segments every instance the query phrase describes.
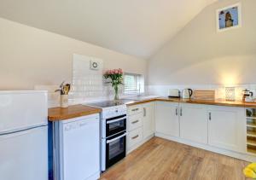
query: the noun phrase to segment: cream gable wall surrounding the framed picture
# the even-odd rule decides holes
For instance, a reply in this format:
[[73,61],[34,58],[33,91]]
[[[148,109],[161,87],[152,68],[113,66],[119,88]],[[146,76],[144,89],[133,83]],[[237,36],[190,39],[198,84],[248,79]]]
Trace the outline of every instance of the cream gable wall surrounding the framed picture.
[[216,9],[237,2],[213,3],[190,21],[149,59],[148,84],[256,84],[256,1],[241,1],[241,28],[216,31]]

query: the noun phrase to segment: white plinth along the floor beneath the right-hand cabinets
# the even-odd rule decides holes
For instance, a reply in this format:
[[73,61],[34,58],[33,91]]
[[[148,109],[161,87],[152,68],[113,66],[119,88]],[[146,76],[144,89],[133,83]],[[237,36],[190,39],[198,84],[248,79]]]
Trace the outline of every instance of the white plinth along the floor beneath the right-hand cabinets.
[[198,143],[198,142],[191,142],[189,140],[185,140],[185,139],[175,137],[175,136],[168,136],[168,135],[165,135],[165,134],[162,134],[162,133],[159,133],[159,132],[155,132],[154,136],[158,136],[158,137],[161,137],[161,138],[173,141],[173,142],[183,143],[183,144],[195,147],[195,148],[202,148],[202,149],[205,149],[207,151],[211,151],[213,153],[224,154],[224,155],[227,155],[227,156],[239,159],[239,160],[246,160],[246,161],[249,161],[249,162],[256,162],[256,156],[253,156],[253,155],[250,155],[250,154],[237,153],[237,152],[234,152],[234,151],[225,150],[223,148],[212,147],[212,146],[207,145],[207,144],[201,144],[201,143]]

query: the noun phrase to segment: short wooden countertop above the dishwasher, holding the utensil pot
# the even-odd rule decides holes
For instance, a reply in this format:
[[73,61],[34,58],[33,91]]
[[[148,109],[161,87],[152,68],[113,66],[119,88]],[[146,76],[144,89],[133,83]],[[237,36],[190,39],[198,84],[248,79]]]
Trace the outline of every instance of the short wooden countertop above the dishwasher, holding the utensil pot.
[[48,119],[49,121],[65,120],[101,112],[102,109],[100,108],[84,106],[81,104],[67,108],[53,107],[48,109]]

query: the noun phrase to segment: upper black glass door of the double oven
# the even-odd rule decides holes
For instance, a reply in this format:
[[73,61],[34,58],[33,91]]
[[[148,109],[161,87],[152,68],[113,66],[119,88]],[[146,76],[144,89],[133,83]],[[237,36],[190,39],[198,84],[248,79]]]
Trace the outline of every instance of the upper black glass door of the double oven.
[[121,131],[126,131],[126,115],[106,119],[106,136],[113,136]]

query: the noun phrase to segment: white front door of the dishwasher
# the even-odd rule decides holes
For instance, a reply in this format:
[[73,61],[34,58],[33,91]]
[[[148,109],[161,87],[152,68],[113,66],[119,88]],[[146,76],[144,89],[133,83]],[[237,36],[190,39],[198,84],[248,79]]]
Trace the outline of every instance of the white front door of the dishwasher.
[[99,116],[83,117],[62,127],[63,180],[84,180],[100,173]]

